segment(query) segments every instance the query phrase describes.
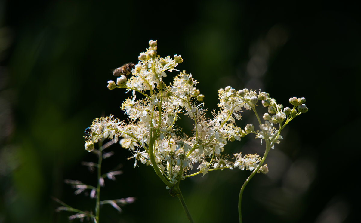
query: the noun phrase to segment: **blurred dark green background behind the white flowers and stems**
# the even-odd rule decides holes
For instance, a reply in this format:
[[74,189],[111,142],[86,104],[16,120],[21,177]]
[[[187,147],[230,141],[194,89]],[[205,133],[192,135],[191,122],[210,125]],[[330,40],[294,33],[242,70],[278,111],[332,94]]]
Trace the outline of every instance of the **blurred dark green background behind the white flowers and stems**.
[[[161,56],[182,55],[177,68],[199,81],[208,111],[217,108],[217,89],[229,85],[262,88],[285,106],[306,97],[309,112],[290,123],[266,160],[270,173],[245,189],[244,222],[357,221],[360,13],[326,3],[1,1],[0,222],[67,222],[52,196],[93,208],[64,179],[95,183],[80,164],[95,158],[84,150],[83,131],[102,115],[126,118],[119,106],[130,95],[106,82],[115,79],[112,69],[137,62],[150,39]],[[256,123],[249,115],[243,119]],[[262,154],[259,143],[249,137],[226,152]],[[187,222],[151,167],[133,169],[129,151],[109,150],[116,154],[104,169],[121,163],[124,173],[105,181],[101,199],[137,201],[122,214],[104,206],[101,222]],[[237,222],[249,174],[214,171],[182,182],[195,222]]]

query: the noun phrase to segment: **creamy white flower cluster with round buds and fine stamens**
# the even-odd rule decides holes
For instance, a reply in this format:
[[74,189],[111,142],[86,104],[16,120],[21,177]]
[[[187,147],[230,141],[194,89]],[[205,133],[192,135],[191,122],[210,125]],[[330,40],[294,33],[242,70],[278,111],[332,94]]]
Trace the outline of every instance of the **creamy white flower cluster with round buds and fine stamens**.
[[[108,82],[109,89],[124,88],[126,92],[132,91],[132,96],[123,101],[121,106],[129,117],[129,123],[112,116],[95,119],[86,136],[85,148],[91,151],[98,140],[108,138],[118,141],[121,137],[119,142],[122,147],[134,154],[131,157],[135,158],[134,167],[137,166],[137,161],[148,163],[155,170],[157,168],[158,176],[161,175],[172,184],[188,176],[200,173],[204,175],[216,169],[238,167],[252,171],[260,163],[259,156],[234,154],[236,162],[232,162],[228,160],[229,156],[221,155],[226,143],[241,140],[252,133],[274,147],[274,143],[279,143],[282,136],[273,124],[279,123],[281,127],[286,118],[289,121],[301,113],[292,112],[295,107],[292,110],[285,108],[282,112],[283,106],[277,105],[268,93],[257,94],[248,89],[236,91],[226,87],[219,89],[219,111],[213,112],[214,117],[209,119],[205,117],[202,103],[204,95],[195,87],[198,82],[192,74],[182,71],[174,77],[173,83],[167,85],[163,82],[163,78],[167,76],[166,71],[175,70],[183,62],[180,55],[174,55],[173,59],[169,56],[162,58],[157,55],[157,41],[150,40],[149,48],[140,53],[138,59],[130,77],[121,75],[116,82]],[[136,99],[136,92],[141,99]],[[257,116],[260,121],[260,130],[257,131],[252,124],[248,124],[244,130],[236,126],[235,120],[241,119],[242,108],[255,111],[258,100],[268,107],[269,113],[275,115],[271,117],[266,113],[265,123],[261,123]],[[194,121],[192,136],[183,134],[175,127],[181,113]],[[255,114],[257,115],[256,112]],[[199,171],[189,174],[188,170],[195,163],[199,163]],[[266,165],[260,170],[268,172]]]

